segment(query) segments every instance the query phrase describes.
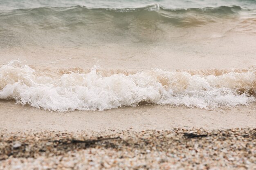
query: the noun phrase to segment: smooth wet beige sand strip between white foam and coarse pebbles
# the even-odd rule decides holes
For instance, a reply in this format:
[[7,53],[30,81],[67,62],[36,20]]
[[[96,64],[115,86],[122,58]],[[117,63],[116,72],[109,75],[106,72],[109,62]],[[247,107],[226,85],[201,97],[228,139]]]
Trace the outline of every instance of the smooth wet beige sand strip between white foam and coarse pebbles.
[[137,106],[105,111],[49,112],[0,100],[0,128],[17,130],[170,130],[172,128],[255,128],[256,105],[205,110],[172,106]]

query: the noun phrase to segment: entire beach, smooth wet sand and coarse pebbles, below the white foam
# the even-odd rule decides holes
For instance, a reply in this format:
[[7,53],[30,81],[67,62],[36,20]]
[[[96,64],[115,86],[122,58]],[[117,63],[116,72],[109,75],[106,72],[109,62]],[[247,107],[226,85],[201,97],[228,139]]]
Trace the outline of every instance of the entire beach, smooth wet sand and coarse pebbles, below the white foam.
[[256,168],[255,105],[57,113],[0,102],[1,170]]

